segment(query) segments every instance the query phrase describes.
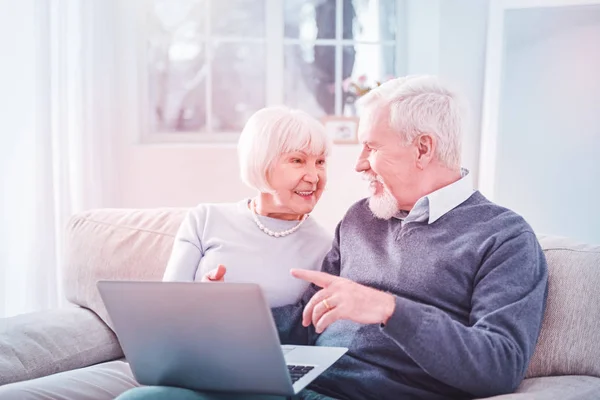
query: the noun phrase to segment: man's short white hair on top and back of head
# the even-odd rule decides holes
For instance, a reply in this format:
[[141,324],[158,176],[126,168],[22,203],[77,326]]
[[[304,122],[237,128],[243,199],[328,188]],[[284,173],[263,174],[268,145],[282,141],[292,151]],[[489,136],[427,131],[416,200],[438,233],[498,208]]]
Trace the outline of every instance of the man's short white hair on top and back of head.
[[392,79],[360,99],[370,107],[388,107],[389,127],[408,145],[419,135],[437,139],[436,156],[445,166],[460,168],[466,111],[457,93],[437,77],[414,75]]

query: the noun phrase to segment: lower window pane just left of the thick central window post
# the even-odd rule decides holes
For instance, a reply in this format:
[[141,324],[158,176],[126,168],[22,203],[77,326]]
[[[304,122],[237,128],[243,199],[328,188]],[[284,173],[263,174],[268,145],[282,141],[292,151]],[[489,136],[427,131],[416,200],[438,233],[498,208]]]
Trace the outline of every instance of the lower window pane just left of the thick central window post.
[[240,132],[265,106],[265,46],[257,43],[214,45],[212,130]]

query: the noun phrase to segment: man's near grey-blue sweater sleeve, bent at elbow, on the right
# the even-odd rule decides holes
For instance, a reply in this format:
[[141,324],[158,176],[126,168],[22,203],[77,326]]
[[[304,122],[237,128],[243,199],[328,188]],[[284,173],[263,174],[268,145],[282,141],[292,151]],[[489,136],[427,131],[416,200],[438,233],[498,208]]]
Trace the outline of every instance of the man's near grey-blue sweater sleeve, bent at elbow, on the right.
[[513,392],[525,376],[545,310],[548,272],[531,232],[507,240],[475,278],[470,323],[396,297],[382,331],[432,377],[475,397]]

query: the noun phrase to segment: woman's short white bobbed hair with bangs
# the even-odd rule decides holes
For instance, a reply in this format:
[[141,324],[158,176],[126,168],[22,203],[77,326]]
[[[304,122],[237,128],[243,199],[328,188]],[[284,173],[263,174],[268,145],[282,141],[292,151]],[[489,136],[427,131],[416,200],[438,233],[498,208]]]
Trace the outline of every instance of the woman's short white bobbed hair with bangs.
[[284,153],[303,151],[328,156],[331,142],[325,127],[308,113],[283,106],[254,113],[238,141],[242,181],[262,193],[273,193],[268,182],[273,161]]

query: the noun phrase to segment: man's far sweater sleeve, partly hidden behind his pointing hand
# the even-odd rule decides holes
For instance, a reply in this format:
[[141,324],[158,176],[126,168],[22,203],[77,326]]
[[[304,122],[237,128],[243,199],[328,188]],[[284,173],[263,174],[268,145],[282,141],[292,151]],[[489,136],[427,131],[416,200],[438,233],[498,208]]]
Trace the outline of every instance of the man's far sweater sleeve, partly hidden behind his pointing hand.
[[[340,275],[340,224],[341,222],[335,230],[331,250],[325,255],[321,265],[321,271],[336,276]],[[311,284],[298,303],[271,310],[282,344],[309,345],[315,343],[317,338],[315,328],[313,325],[309,325],[307,328],[302,326],[302,312],[306,304],[319,290],[318,286]]]

